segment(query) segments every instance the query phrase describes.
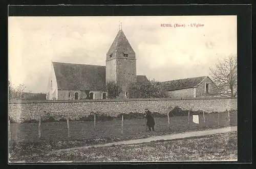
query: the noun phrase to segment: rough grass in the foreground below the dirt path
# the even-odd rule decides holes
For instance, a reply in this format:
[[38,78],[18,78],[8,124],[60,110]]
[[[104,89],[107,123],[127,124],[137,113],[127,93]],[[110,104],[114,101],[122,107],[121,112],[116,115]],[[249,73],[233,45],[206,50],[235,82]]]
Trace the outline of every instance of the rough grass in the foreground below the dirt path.
[[[16,152],[16,155],[15,155]],[[237,132],[143,144],[90,148],[66,152],[43,151],[18,155],[12,162],[113,162],[113,161],[204,161],[236,160]]]

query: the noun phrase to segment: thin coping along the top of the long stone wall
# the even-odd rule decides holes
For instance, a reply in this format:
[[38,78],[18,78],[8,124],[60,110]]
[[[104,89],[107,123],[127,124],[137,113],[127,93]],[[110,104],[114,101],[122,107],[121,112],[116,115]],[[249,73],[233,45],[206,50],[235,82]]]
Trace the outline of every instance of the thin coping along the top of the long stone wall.
[[136,101],[172,101],[172,100],[215,100],[215,99],[238,99],[231,97],[215,97],[215,98],[155,98],[155,99],[104,99],[104,100],[44,100],[44,101],[18,101],[9,102],[9,104],[26,104],[26,103],[72,103],[72,102],[136,102]]

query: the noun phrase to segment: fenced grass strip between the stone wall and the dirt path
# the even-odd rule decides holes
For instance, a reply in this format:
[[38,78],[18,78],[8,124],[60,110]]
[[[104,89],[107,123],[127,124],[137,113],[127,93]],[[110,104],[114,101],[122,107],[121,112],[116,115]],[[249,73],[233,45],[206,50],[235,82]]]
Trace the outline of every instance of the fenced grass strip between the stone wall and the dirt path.
[[[66,122],[42,123],[40,140],[95,140],[108,141],[128,140],[144,138],[151,135],[180,133],[184,131],[204,130],[207,128],[220,128],[237,125],[237,113],[230,113],[230,121],[227,113],[199,115],[199,124],[193,123],[193,116],[170,117],[170,129],[167,117],[155,118],[156,126],[154,133],[146,132],[145,119],[124,119],[123,134],[121,134],[121,120],[98,121],[94,128],[94,122],[70,122],[70,138]],[[11,141],[37,141],[38,124],[23,123],[10,125]]]

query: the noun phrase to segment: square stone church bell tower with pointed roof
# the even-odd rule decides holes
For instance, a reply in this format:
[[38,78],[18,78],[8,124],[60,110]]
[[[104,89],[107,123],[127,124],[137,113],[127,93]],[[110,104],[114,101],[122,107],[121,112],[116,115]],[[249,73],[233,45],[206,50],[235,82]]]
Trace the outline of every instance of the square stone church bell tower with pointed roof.
[[135,52],[120,26],[106,54],[106,83],[111,81],[122,88],[120,99],[129,98],[128,88],[137,81]]

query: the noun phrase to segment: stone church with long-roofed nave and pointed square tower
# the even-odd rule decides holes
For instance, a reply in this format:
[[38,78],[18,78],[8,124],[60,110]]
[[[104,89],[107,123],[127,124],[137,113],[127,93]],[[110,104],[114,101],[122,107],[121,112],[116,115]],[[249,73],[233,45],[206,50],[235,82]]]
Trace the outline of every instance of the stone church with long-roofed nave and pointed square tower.
[[119,99],[125,99],[131,83],[145,80],[136,74],[136,54],[120,29],[106,53],[105,66],[52,62],[47,100],[106,99],[108,82],[116,82],[122,88]]

